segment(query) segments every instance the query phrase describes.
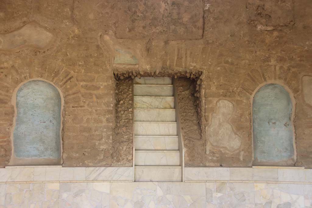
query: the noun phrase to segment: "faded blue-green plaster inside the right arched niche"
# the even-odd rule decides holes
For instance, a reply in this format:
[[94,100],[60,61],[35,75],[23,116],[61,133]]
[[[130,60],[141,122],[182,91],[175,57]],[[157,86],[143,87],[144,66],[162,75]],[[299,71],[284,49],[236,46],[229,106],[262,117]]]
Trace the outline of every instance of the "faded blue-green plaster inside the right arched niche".
[[254,159],[279,162],[293,157],[292,101],[280,85],[267,84],[255,94],[252,105]]

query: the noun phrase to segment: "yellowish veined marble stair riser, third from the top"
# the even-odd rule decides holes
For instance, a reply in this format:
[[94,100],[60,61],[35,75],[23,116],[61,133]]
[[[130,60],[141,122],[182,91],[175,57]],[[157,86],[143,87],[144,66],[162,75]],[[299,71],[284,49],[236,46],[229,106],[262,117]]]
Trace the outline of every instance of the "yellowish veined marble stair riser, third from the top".
[[134,108],[174,108],[174,97],[134,96]]

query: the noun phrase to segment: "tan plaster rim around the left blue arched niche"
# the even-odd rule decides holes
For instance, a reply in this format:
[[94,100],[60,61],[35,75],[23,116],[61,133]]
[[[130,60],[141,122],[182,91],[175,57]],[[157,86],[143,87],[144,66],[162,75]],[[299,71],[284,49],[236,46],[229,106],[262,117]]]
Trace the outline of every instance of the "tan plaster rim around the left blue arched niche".
[[[60,157],[57,159],[51,159],[51,158],[20,158],[20,157],[15,157],[14,153],[14,130],[16,128],[16,119],[17,119],[17,92],[21,88],[22,85],[30,82],[30,81],[44,81],[48,84],[51,84],[59,93],[60,98],[61,98],[61,109],[60,109],[60,130],[59,130],[59,142],[60,142]],[[63,110],[64,110],[64,96],[59,87],[57,87],[53,82],[42,79],[42,78],[33,78],[33,79],[28,79],[25,80],[19,85],[16,86],[12,93],[12,98],[11,98],[11,104],[14,106],[14,117],[13,117],[13,125],[11,128],[11,134],[10,134],[10,139],[11,139],[11,157],[10,161],[7,164],[7,166],[53,166],[53,165],[62,165],[63,164]]]

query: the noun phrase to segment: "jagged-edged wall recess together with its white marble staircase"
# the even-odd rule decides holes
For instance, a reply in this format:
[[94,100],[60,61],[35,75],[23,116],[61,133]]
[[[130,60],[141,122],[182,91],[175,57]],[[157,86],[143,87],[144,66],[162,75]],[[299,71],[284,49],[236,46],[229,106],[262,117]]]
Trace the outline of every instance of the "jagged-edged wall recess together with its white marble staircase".
[[133,138],[134,181],[184,181],[183,140],[202,139],[201,75],[201,71],[114,73],[113,147],[117,140],[130,143]]

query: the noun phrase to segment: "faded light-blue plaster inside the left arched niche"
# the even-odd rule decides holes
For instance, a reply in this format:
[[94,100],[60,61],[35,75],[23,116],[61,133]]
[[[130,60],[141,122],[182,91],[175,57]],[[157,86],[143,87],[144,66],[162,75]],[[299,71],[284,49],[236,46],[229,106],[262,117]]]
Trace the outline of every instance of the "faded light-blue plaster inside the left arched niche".
[[13,132],[15,157],[61,157],[61,96],[48,82],[32,80],[16,94],[16,124]]

